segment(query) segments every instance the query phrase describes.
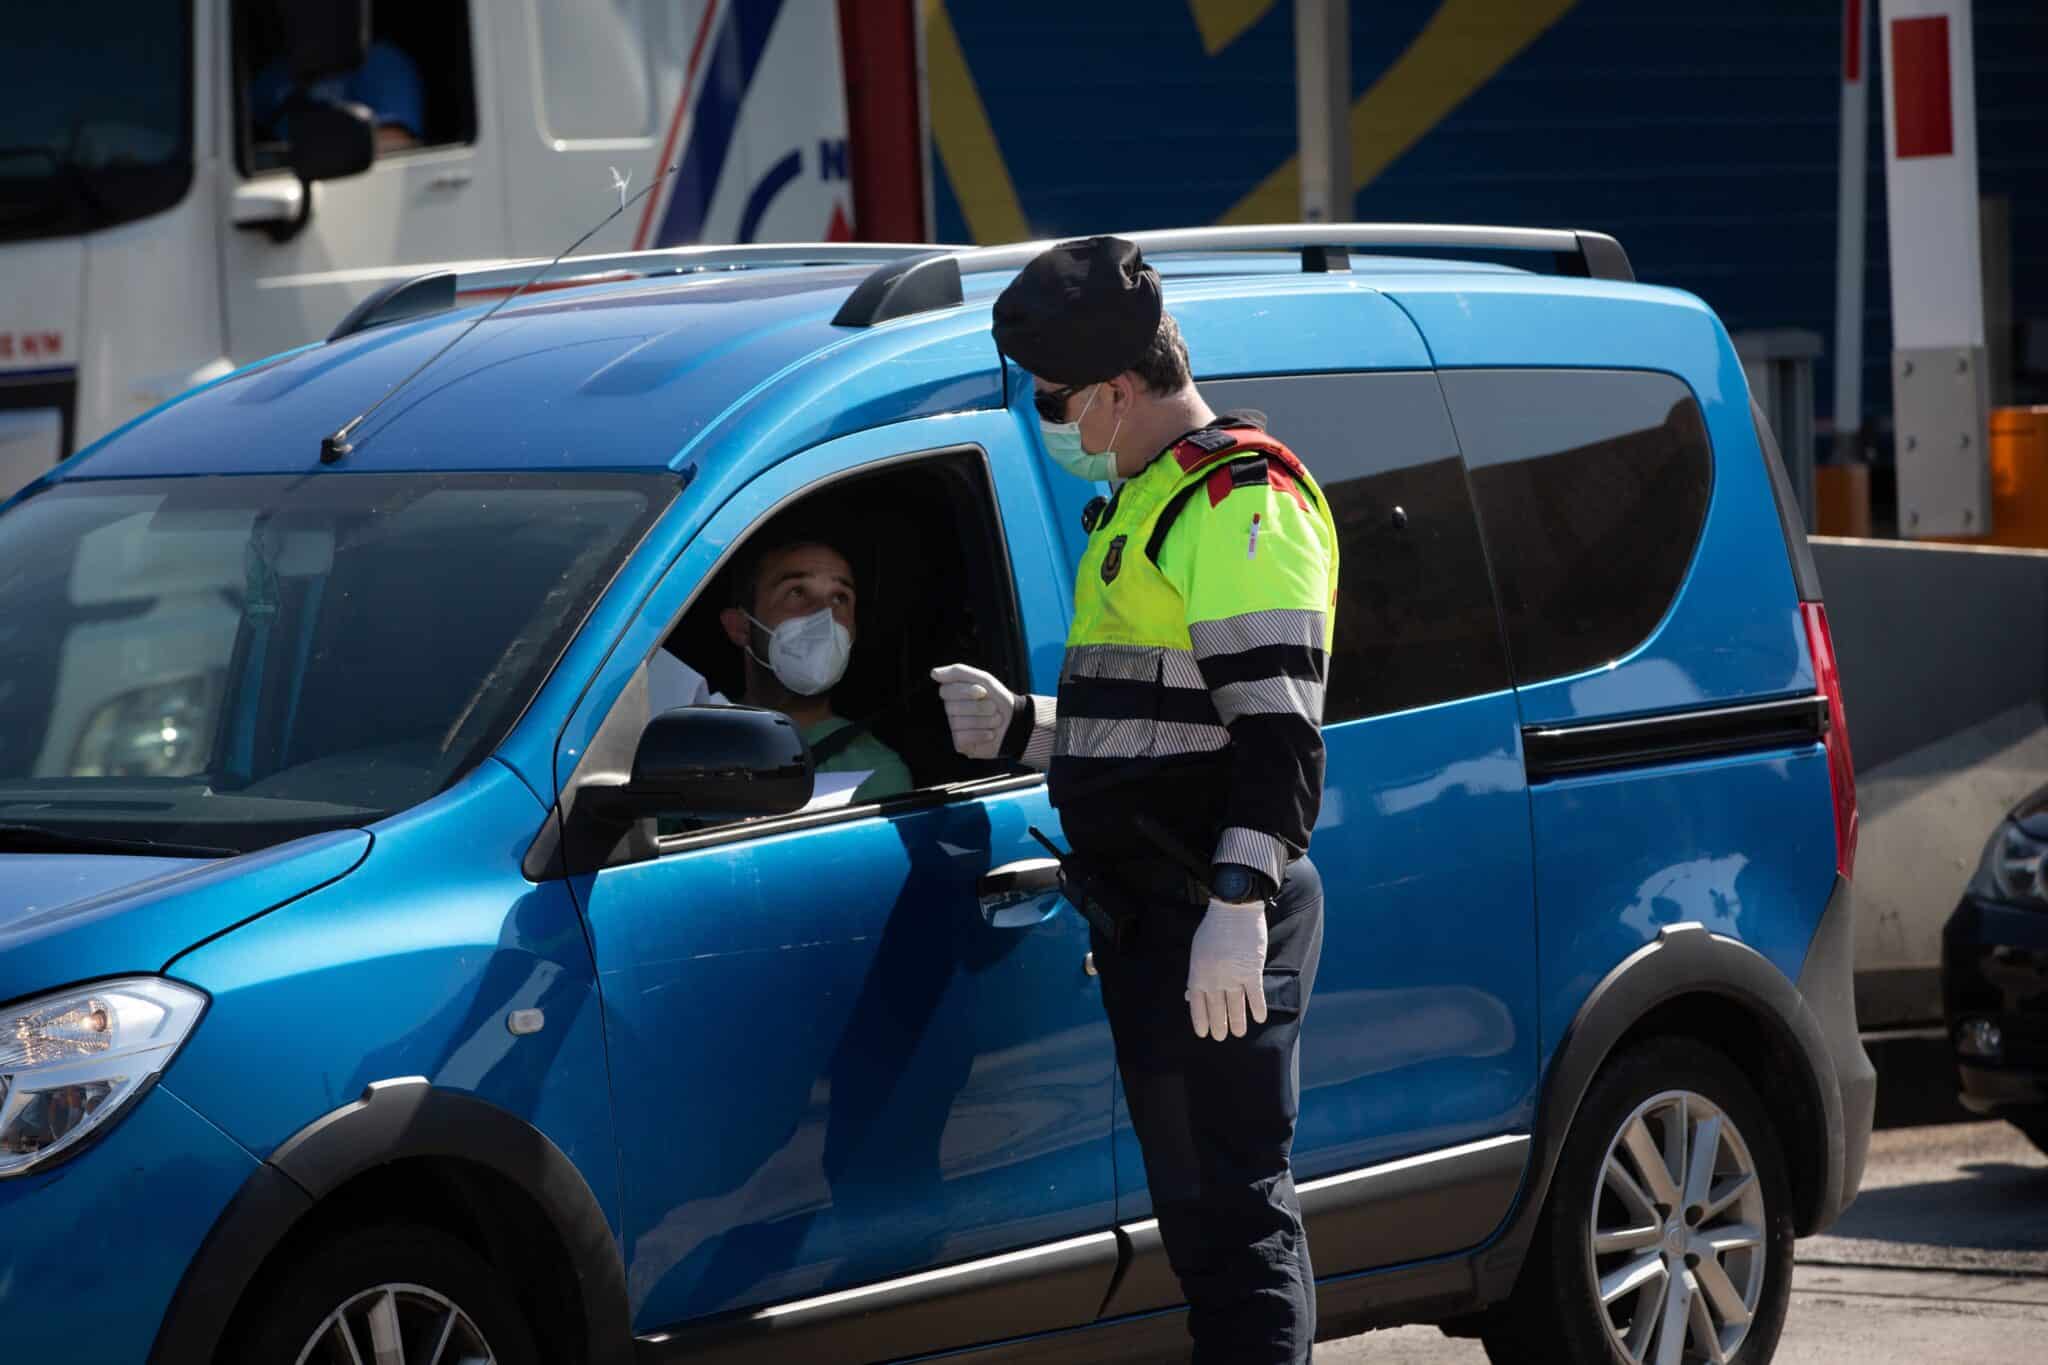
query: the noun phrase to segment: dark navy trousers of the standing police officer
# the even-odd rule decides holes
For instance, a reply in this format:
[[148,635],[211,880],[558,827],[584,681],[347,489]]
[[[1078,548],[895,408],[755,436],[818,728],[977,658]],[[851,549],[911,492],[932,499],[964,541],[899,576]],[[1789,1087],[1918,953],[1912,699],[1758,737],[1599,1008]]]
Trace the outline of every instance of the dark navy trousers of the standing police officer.
[[1315,1342],[1315,1271],[1290,1166],[1300,1021],[1323,956],[1323,880],[1303,857],[1268,907],[1266,1023],[1196,1038],[1188,948],[1204,907],[1149,900],[1139,941],[1096,941],[1153,1216],[1188,1295],[1194,1365],[1296,1365]]

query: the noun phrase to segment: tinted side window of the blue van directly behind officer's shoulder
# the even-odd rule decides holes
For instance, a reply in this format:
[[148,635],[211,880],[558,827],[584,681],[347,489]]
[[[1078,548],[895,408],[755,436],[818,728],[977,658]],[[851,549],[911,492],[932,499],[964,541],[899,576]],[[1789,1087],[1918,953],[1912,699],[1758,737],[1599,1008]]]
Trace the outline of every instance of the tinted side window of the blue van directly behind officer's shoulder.
[[1329,497],[1341,563],[1327,724],[1507,686],[1487,557],[1434,375],[1225,379],[1202,393],[1217,411],[1264,411]]

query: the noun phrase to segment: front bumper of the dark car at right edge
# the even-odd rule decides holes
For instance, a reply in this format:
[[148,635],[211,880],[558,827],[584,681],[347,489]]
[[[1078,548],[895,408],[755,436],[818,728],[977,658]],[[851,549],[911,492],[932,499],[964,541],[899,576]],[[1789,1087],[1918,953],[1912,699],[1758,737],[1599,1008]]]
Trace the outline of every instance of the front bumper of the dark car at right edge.
[[[1942,1013],[1966,1109],[2048,1115],[2048,911],[1964,896],[1942,929]],[[1997,1025],[1995,1056],[1960,1050],[1976,1019]]]

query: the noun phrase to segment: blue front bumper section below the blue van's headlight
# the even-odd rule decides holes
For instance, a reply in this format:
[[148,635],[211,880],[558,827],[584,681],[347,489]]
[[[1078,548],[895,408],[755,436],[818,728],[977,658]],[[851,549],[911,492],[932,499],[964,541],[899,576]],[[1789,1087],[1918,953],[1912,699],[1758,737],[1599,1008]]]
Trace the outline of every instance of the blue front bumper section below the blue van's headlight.
[[0,1181],[0,1359],[145,1361],[256,1158],[162,1085],[49,1171]]

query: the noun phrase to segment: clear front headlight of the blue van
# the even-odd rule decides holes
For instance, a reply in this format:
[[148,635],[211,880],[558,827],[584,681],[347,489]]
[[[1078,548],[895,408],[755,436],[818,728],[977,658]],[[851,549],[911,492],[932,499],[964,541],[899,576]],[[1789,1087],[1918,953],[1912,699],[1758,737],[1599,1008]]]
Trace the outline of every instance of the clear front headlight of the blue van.
[[102,980],[0,1011],[0,1179],[106,1128],[178,1052],[207,997],[158,976]]

